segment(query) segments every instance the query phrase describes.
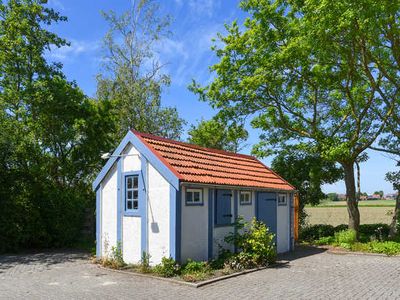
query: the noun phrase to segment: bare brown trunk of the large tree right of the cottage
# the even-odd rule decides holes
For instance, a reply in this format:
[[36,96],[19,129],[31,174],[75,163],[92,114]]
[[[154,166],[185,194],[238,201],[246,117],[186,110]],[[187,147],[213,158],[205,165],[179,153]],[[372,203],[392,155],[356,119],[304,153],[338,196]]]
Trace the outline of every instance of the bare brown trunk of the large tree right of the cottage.
[[357,233],[360,227],[360,212],[358,210],[358,202],[356,196],[356,184],[354,178],[354,162],[343,163],[344,182],[346,184],[346,202],[347,212],[349,213],[349,229],[353,229]]

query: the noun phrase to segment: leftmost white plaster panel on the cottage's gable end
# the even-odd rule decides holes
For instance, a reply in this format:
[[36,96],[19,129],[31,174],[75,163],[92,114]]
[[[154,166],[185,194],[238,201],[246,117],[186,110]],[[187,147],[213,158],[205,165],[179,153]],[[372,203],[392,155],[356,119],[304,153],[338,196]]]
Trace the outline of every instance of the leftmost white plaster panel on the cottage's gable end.
[[101,256],[110,255],[117,245],[117,167],[116,164],[101,184]]

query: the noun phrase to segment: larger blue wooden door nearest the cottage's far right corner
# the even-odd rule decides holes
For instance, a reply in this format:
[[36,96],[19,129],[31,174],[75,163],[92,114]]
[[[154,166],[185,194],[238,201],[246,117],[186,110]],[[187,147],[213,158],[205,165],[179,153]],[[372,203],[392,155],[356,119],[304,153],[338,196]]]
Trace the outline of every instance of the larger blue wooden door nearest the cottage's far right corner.
[[276,193],[257,193],[256,216],[259,221],[264,222],[275,234],[277,233],[277,206]]

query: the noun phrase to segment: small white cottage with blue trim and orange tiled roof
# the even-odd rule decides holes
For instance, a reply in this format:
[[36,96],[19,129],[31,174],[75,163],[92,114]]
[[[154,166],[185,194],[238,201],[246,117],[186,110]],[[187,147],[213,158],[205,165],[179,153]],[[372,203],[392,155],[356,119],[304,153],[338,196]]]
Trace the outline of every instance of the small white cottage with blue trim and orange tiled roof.
[[[237,216],[265,222],[277,250],[294,246],[295,189],[256,158],[129,131],[93,183],[97,257],[120,244],[124,261],[143,252],[208,260]],[[232,249],[233,250],[233,249]]]

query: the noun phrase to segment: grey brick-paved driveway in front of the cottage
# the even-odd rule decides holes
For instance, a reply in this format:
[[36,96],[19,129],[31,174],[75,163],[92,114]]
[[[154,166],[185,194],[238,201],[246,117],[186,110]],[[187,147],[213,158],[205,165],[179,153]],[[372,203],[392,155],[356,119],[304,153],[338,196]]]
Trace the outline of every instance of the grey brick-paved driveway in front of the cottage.
[[0,256],[1,299],[400,299],[400,258],[302,249],[199,289],[98,268],[77,252]]

